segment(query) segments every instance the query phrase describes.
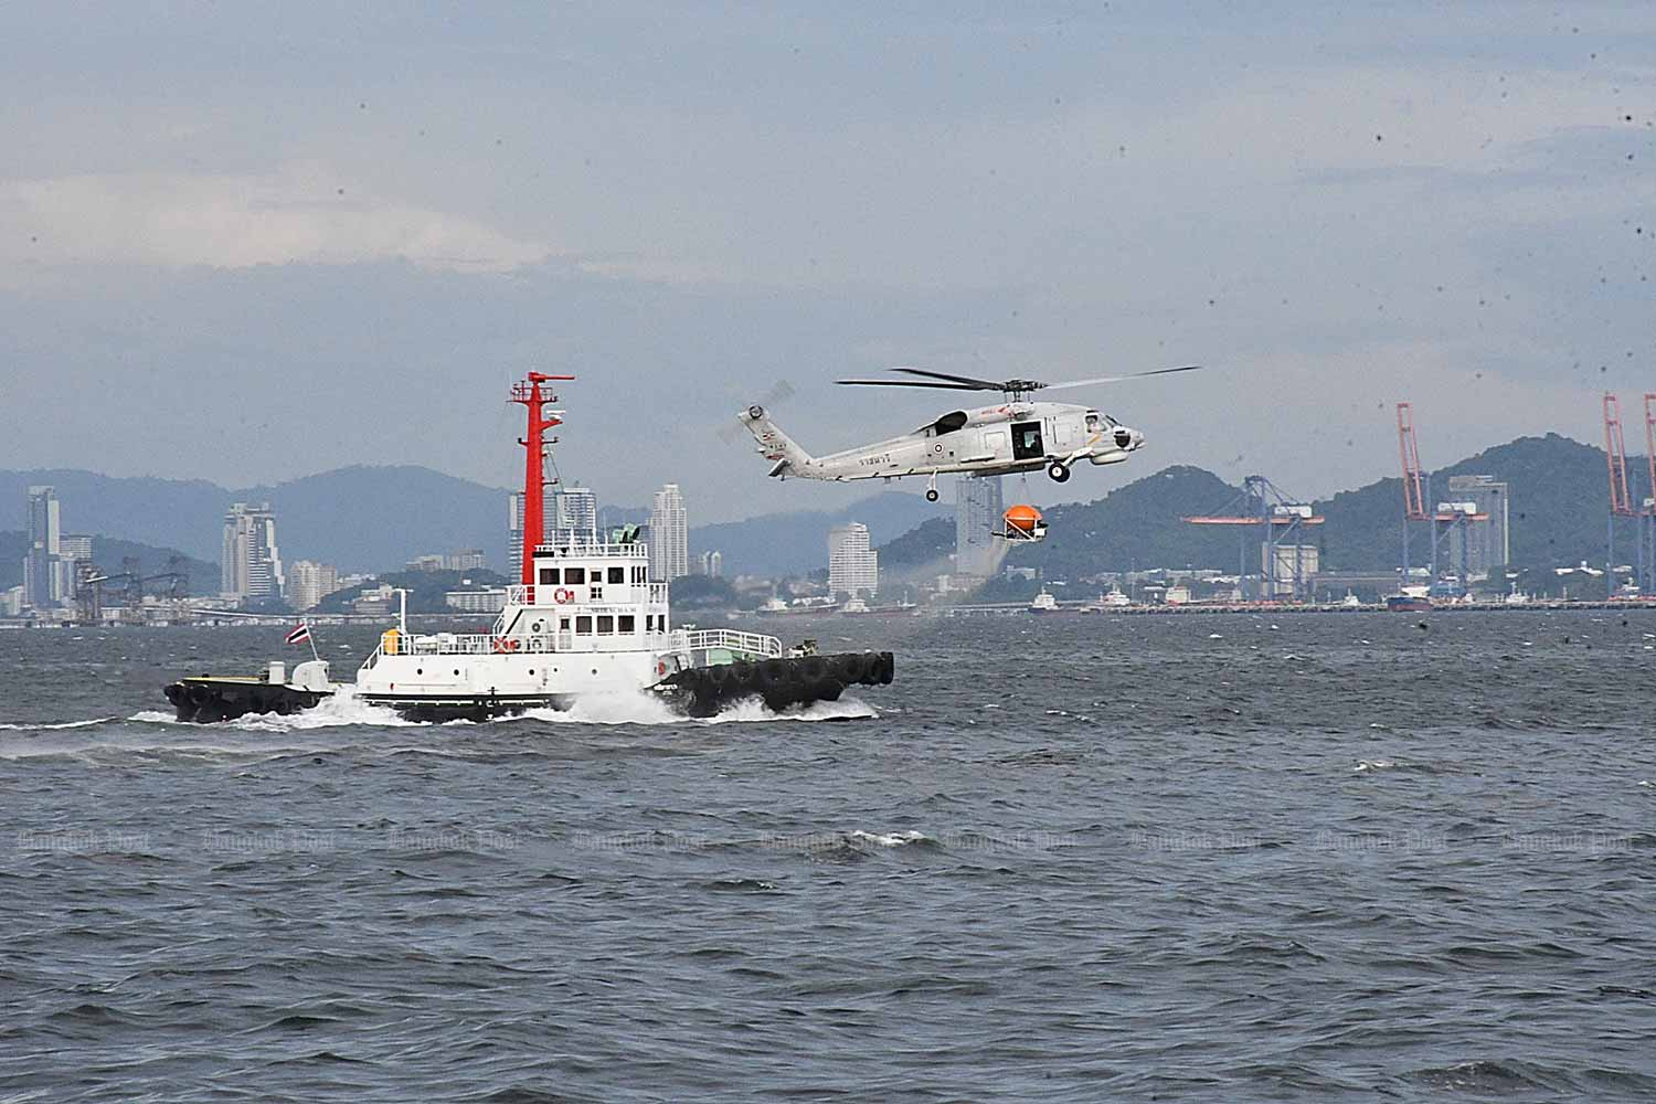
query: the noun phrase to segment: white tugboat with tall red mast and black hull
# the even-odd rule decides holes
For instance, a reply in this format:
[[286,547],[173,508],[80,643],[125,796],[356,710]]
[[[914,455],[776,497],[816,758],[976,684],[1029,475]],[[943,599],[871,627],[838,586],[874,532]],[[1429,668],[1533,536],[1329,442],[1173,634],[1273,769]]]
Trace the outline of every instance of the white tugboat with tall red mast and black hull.
[[[525,533],[545,531],[543,440],[561,424],[556,412],[545,412],[556,402],[542,387],[551,379],[571,377],[530,372],[512,392],[528,407]],[[424,722],[568,708],[583,695],[639,690],[691,717],[710,717],[749,697],[770,708],[831,702],[848,685],[889,685],[893,670],[891,652],[818,655],[810,646],[785,650],[777,637],[757,632],[671,627],[667,583],[649,578],[638,526],[623,526],[604,536],[561,531],[551,543],[527,545],[522,581],[507,588],[489,632],[416,634],[399,616],[356,672],[354,694]],[[215,722],[308,708],[336,690],[316,660],[296,667],[291,685],[273,664],[265,680],[200,675],[166,692],[179,720]]]

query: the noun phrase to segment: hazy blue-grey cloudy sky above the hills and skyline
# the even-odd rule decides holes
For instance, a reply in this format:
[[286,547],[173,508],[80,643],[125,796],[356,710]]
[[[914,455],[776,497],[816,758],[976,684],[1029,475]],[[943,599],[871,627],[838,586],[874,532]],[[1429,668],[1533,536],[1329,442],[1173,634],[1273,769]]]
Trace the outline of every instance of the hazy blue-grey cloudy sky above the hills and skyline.
[[[904,432],[919,364],[1075,379],[1129,463],[1300,497],[1656,392],[1648,3],[0,7],[0,467],[507,487],[696,523]],[[921,483],[899,487],[919,492]]]

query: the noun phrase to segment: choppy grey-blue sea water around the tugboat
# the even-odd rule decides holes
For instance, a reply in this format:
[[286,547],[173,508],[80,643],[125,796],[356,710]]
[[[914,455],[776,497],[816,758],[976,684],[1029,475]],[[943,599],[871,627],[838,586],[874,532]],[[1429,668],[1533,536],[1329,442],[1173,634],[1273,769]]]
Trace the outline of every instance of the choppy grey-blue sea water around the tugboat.
[[3,634],[0,1097],[1649,1099],[1656,612],[1418,622],[823,621],[898,684],[444,727]]

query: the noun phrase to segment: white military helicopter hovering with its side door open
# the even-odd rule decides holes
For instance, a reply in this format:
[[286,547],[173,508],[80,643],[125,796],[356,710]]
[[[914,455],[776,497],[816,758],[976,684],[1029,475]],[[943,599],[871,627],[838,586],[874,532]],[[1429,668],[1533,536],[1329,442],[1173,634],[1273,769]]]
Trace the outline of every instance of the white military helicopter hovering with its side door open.
[[758,452],[772,462],[770,475],[838,482],[924,475],[927,477],[926,500],[937,502],[937,477],[946,472],[1005,475],[1047,468],[1047,475],[1053,482],[1063,483],[1070,478],[1070,467],[1080,460],[1121,463],[1129,454],[1144,447],[1144,434],[1119,424],[1108,414],[1068,402],[1030,402],[1027,396],[1037,391],[1091,387],[1144,379],[1146,376],[1192,372],[1197,367],[1201,366],[1159,367],[1131,376],[1098,376],[1058,384],[1043,384],[1035,379],[995,382],[970,376],[929,372],[922,367],[891,369],[921,379],[841,379],[840,384],[853,387],[999,391],[1005,396],[1005,402],[972,410],[949,410],[903,437],[845,449],[825,457],[813,457],[793,444],[793,439],[770,420],[770,414],[762,406],[750,406],[737,417],[753,434]]

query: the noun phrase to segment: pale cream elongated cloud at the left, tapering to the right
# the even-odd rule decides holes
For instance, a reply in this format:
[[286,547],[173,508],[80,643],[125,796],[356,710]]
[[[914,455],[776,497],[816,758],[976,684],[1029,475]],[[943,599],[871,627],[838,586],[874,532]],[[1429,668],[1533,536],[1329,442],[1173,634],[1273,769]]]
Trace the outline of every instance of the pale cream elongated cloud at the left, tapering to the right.
[[359,192],[315,166],[258,175],[119,172],[0,182],[8,266],[353,265],[512,271],[551,250],[474,218]]

